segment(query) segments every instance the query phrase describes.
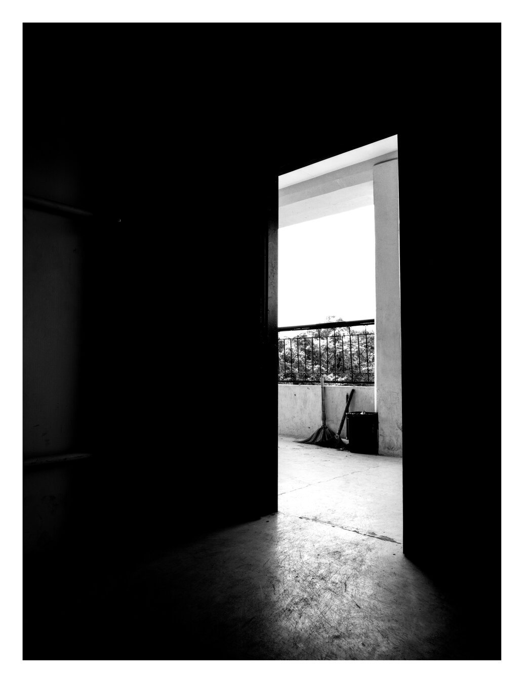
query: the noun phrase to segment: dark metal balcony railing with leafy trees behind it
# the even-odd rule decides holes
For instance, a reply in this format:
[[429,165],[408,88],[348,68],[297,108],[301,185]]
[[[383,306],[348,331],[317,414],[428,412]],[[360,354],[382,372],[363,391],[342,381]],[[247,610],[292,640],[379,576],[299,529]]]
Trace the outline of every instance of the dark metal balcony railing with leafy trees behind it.
[[[372,386],[375,381],[374,320],[337,320],[279,327],[279,384]],[[284,333],[303,331],[286,337]],[[333,331],[333,333],[331,333]]]

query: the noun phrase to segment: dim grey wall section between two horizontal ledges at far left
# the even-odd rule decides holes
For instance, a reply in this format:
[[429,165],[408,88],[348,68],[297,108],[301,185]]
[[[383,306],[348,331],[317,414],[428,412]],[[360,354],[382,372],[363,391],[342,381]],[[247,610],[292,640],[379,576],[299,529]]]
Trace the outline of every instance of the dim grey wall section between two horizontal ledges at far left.
[[73,453],[83,436],[85,234],[78,219],[26,208],[23,239],[24,452]]

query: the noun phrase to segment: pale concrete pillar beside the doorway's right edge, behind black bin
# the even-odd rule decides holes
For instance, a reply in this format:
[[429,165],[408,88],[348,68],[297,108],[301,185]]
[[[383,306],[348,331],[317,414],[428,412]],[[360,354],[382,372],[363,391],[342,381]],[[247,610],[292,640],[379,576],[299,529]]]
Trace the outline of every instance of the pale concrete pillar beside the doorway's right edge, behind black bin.
[[373,167],[375,208],[375,412],[378,453],[402,456],[398,161]]

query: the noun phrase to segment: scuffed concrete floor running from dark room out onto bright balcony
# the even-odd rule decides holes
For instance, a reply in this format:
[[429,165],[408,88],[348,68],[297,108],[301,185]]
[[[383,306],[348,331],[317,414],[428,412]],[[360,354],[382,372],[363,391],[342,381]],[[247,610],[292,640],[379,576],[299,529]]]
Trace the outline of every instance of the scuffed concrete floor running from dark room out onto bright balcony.
[[463,658],[452,605],[402,554],[402,460],[292,438],[277,514],[94,577],[82,600],[60,617],[68,658]]

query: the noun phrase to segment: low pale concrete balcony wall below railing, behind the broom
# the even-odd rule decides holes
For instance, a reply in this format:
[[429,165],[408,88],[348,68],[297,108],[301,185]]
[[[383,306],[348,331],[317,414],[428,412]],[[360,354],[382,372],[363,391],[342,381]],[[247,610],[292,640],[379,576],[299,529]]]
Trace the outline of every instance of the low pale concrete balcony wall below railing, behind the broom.
[[[355,389],[349,410],[375,412],[374,387],[325,387],[327,426],[337,432],[346,407],[346,393]],[[380,416],[379,416],[380,418]],[[281,436],[307,438],[322,424],[320,386],[279,385],[278,387],[278,432]],[[341,436],[346,438],[346,424]]]

